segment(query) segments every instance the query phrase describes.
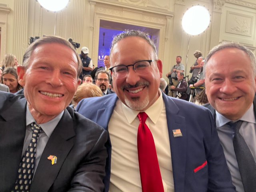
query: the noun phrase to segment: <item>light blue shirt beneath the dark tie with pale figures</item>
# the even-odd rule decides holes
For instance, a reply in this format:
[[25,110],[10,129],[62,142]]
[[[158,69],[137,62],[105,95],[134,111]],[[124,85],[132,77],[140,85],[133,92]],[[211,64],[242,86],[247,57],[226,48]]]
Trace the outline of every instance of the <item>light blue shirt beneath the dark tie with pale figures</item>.
[[[36,161],[34,165],[34,174],[36,172],[36,168],[38,166],[39,160],[42,156],[42,153],[44,151],[44,148],[54,131],[55,127],[57,126],[58,122],[62,118],[62,115],[64,114],[64,111],[62,111],[58,116],[56,116],[54,119],[50,120],[49,122],[39,124],[42,128],[42,131],[39,134],[38,137],[38,142],[36,146]],[[22,156],[26,152],[26,149],[28,148],[28,145],[30,143],[30,140],[32,138],[32,129],[30,127],[30,124],[36,122],[35,119],[33,118],[32,114],[30,113],[27,105],[26,109],[26,135],[25,135],[25,140],[24,140],[24,145],[23,145],[23,150],[22,150]],[[54,154],[53,154],[54,155]]]

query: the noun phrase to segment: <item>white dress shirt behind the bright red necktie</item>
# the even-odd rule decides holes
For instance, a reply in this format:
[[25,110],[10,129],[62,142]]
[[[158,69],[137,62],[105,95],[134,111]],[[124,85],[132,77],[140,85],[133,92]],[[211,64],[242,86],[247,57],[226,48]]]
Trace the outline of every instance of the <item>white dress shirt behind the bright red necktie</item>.
[[[141,192],[137,132],[140,111],[125,106],[119,99],[110,118],[108,131],[112,144],[110,192]],[[162,92],[146,111],[146,124],[152,132],[164,191],[174,192],[170,140]]]

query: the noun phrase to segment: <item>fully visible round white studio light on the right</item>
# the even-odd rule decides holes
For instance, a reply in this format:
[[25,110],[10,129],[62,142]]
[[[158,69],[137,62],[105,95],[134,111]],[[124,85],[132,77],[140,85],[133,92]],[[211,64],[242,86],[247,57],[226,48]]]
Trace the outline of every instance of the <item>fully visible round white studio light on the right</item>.
[[189,8],[182,18],[182,28],[190,35],[198,35],[208,27],[210,13],[204,6],[193,6]]

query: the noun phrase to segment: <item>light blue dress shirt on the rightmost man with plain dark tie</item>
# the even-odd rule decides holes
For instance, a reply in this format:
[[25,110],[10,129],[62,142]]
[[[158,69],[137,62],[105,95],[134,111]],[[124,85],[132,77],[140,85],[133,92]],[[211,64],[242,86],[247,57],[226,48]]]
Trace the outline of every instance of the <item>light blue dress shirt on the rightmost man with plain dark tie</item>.
[[[241,125],[239,133],[242,135],[246,144],[250,148],[254,160],[256,160],[256,120],[254,116],[253,104],[250,106],[244,116],[240,118],[240,120],[243,120],[244,122]],[[236,187],[237,192],[244,192],[233,146],[234,130],[231,129],[230,126],[226,125],[226,123],[230,121],[231,120],[225,118],[216,111],[216,128],[220,138],[220,143],[224,150],[228,168],[232,176],[232,182]]]

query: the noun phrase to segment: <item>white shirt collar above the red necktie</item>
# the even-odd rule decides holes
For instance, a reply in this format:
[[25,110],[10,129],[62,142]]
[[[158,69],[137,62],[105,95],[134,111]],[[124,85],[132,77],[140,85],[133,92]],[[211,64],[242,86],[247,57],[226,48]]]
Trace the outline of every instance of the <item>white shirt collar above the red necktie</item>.
[[[158,90],[159,97],[158,99],[148,108],[145,110],[145,113],[148,117],[152,120],[154,124],[156,124],[162,109],[164,108],[164,100],[162,97],[162,91]],[[125,104],[121,104],[122,111],[128,121],[128,123],[132,123],[134,119],[138,116],[140,111],[133,110],[126,106]]]

